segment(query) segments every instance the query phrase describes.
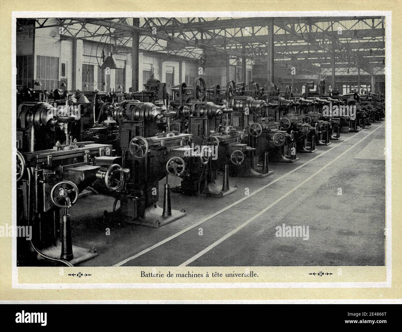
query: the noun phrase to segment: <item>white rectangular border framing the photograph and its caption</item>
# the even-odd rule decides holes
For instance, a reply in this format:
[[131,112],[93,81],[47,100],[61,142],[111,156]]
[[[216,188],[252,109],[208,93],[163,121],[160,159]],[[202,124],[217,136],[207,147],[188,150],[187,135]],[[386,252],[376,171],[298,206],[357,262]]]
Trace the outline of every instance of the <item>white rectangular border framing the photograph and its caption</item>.
[[[212,289],[212,288],[389,288],[392,281],[392,190],[391,190],[391,11],[259,11],[259,12],[12,12],[11,16],[11,86],[12,86],[12,128],[16,128],[16,18],[46,17],[302,17],[302,16],[385,16],[385,84],[386,84],[386,281],[381,282],[322,282],[322,283],[18,283],[16,266],[16,238],[12,238],[12,288],[17,289]],[[16,135],[12,133],[12,156],[16,154]],[[12,158],[12,225],[16,227],[16,160]],[[116,268],[116,267],[115,267]],[[392,301],[392,300],[391,300]],[[270,301],[271,302],[271,301]],[[342,300],[344,302],[344,300]],[[272,303],[272,302],[271,302]],[[367,302],[366,302],[367,303]]]

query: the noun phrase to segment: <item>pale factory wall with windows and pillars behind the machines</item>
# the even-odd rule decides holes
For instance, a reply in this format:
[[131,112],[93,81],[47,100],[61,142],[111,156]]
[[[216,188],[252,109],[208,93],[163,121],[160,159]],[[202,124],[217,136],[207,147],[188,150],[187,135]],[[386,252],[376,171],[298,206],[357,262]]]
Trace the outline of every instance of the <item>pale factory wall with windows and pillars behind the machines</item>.
[[[54,19],[53,21],[52,24],[57,24],[57,21]],[[35,35],[35,40],[33,35]],[[103,74],[103,77],[98,77],[98,65],[101,63],[102,51],[104,51],[105,57],[112,51],[117,66],[123,69],[123,91],[129,92],[132,72],[130,53],[114,53],[113,46],[96,41],[63,39],[60,35],[59,27],[17,33],[17,55],[33,54],[33,81],[39,80],[42,83],[42,86],[34,86],[37,90],[62,88],[61,84],[63,82],[67,85],[64,89],[68,90],[117,90],[118,84],[115,70],[110,70],[109,76]],[[43,63],[39,66],[38,56],[46,57],[46,59],[41,58],[40,61],[43,61]],[[51,63],[47,62],[49,57],[52,58]],[[207,86],[220,84],[224,87],[228,80],[238,81],[236,80],[236,66],[233,64],[230,65],[229,77],[226,77],[226,62],[224,59],[215,59],[214,56],[209,57],[209,65],[204,68],[202,75],[198,73],[199,64],[196,60],[183,59],[183,57],[175,57],[174,55],[140,51],[139,90],[143,89],[143,84],[146,83],[146,79],[152,71],[158,80],[166,82],[168,90],[170,90],[170,86],[181,82],[192,84],[193,80],[199,76],[205,79]],[[88,74],[83,75],[83,65],[93,66],[93,74],[89,75],[90,78],[88,78]],[[55,68],[49,71],[48,66],[55,66]],[[40,68],[40,72],[38,72],[38,68]],[[247,70],[250,73],[252,66],[247,65]],[[181,77],[179,77],[180,73]],[[51,77],[49,77],[49,74]],[[251,79],[250,74],[248,74],[248,79]],[[167,82],[168,80],[169,82]],[[85,82],[88,87],[84,86]],[[107,85],[103,85],[104,82]]]

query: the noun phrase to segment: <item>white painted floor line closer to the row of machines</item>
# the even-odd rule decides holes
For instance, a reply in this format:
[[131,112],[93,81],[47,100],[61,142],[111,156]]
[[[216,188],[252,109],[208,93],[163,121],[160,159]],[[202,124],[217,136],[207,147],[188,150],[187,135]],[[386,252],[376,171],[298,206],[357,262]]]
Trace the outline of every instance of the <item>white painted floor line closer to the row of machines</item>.
[[[380,127],[381,127],[381,126],[380,126]],[[377,129],[380,128],[380,127],[377,127],[375,130],[377,130]],[[275,182],[281,180],[281,179],[284,178],[285,176],[287,176],[287,175],[289,175],[289,174],[295,172],[296,170],[302,168],[303,166],[309,164],[309,163],[312,162],[313,160],[316,160],[317,158],[320,158],[320,157],[323,156],[324,154],[327,154],[328,152],[334,150],[334,149],[337,148],[338,146],[340,146],[340,145],[342,145],[343,143],[349,141],[349,139],[351,139],[352,137],[355,137],[356,135],[359,135],[360,133],[362,133],[362,132],[365,131],[365,130],[366,130],[366,129],[363,129],[363,130],[359,131],[358,133],[355,133],[355,134],[352,135],[351,137],[348,137],[347,139],[340,141],[338,144],[336,144],[336,145],[333,146],[332,148],[330,148],[330,149],[328,149],[328,150],[322,152],[321,154],[319,154],[318,156],[315,156],[314,158],[308,160],[308,161],[305,162],[304,164],[301,164],[300,166],[297,166],[295,169],[293,169],[293,170],[287,172],[286,174],[283,174],[282,176],[279,176],[279,178],[273,180],[272,182],[269,182],[268,184],[265,184],[265,185],[262,186],[260,189],[257,189],[256,191],[253,191],[253,192],[250,193],[249,195],[247,195],[247,196],[243,197],[242,199],[239,199],[238,201],[236,201],[236,202],[234,202],[234,203],[228,205],[227,207],[223,208],[222,210],[219,210],[219,211],[213,213],[212,215],[209,215],[208,217],[205,217],[205,218],[201,219],[201,220],[198,221],[197,223],[186,227],[185,229],[181,230],[180,232],[177,232],[176,234],[173,234],[172,236],[169,236],[168,238],[166,238],[166,239],[164,239],[164,240],[162,240],[162,241],[160,241],[160,242],[157,242],[157,243],[154,244],[153,246],[150,246],[149,248],[144,249],[144,250],[138,252],[137,254],[135,254],[135,255],[133,255],[133,256],[131,256],[131,257],[128,257],[128,258],[126,258],[125,260],[122,260],[121,262],[119,262],[119,263],[117,263],[117,264],[114,264],[113,266],[122,266],[122,265],[126,264],[127,262],[129,262],[130,260],[133,260],[133,259],[135,259],[135,258],[137,258],[137,257],[139,257],[139,256],[142,256],[142,255],[146,254],[147,252],[149,252],[149,251],[151,251],[151,250],[153,250],[153,249],[155,249],[155,248],[158,248],[158,247],[161,246],[162,244],[165,244],[166,242],[169,242],[170,240],[173,240],[174,238],[176,238],[176,237],[178,237],[178,236],[180,236],[180,235],[182,235],[182,234],[188,232],[189,230],[192,230],[193,228],[197,227],[198,225],[201,225],[202,223],[204,223],[205,221],[207,221],[207,220],[209,220],[209,219],[211,219],[211,218],[213,218],[213,217],[216,217],[217,215],[221,214],[222,212],[224,212],[224,211],[230,209],[231,207],[234,207],[235,205],[241,203],[242,201],[244,201],[244,200],[246,200],[246,199],[252,197],[253,195],[259,193],[260,191],[266,189],[266,188],[269,187],[271,184],[274,184]],[[372,131],[372,132],[374,132],[374,131]]]

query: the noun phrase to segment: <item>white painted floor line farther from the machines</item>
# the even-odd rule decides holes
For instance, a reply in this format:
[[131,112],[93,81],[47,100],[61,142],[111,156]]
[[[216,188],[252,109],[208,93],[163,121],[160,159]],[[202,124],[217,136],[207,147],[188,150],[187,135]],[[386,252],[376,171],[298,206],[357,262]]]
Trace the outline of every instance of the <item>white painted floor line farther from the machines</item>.
[[[230,238],[230,236],[232,236],[233,234],[236,234],[238,231],[240,231],[243,227],[245,227],[246,225],[248,225],[251,221],[253,221],[254,219],[258,218],[260,215],[262,215],[263,213],[267,212],[269,209],[271,209],[271,207],[273,207],[274,205],[276,205],[277,203],[279,203],[282,199],[288,197],[291,193],[293,193],[294,191],[296,191],[297,189],[299,189],[303,184],[305,184],[306,182],[308,182],[309,180],[311,180],[312,178],[314,178],[314,176],[316,176],[318,173],[320,173],[322,170],[324,170],[325,168],[327,168],[328,166],[330,166],[330,164],[332,164],[333,162],[335,162],[336,160],[338,160],[340,157],[342,157],[344,154],[346,154],[347,152],[349,152],[351,149],[353,149],[355,146],[357,146],[357,144],[361,143],[364,139],[366,139],[367,137],[369,137],[369,135],[371,135],[372,133],[374,133],[374,131],[376,131],[377,129],[381,128],[381,126],[375,128],[373,131],[371,131],[370,133],[368,133],[365,137],[363,137],[362,139],[360,139],[359,141],[357,141],[355,144],[353,144],[353,146],[351,146],[350,148],[348,148],[347,150],[345,150],[344,152],[342,152],[339,156],[337,156],[336,158],[334,158],[334,160],[331,160],[330,162],[328,162],[328,164],[322,166],[317,172],[315,172],[314,174],[310,175],[308,178],[306,178],[306,180],[302,181],[301,183],[299,183],[297,186],[295,186],[293,189],[291,189],[290,191],[288,191],[285,195],[283,195],[282,197],[280,197],[279,199],[277,199],[275,202],[273,202],[272,204],[268,205],[265,209],[263,209],[262,211],[258,212],[256,215],[254,215],[254,217],[251,217],[250,219],[248,219],[247,221],[245,221],[244,223],[242,223],[240,226],[238,226],[236,229],[232,230],[232,232],[229,232],[228,234],[226,234],[225,236],[223,236],[222,238],[220,238],[219,240],[215,241],[213,244],[211,244],[210,246],[208,246],[207,248],[205,248],[204,250],[200,251],[198,254],[196,254],[195,256],[191,257],[190,259],[186,260],[184,263],[180,264],[179,266],[187,266],[188,264],[191,264],[192,262],[194,262],[197,258],[200,258],[201,256],[203,256],[204,254],[206,254],[207,252],[209,252],[211,249],[215,248],[218,244],[224,242],[226,239]],[[354,135],[353,135],[354,136]],[[353,137],[351,136],[351,137]],[[328,150],[329,151],[329,150]]]

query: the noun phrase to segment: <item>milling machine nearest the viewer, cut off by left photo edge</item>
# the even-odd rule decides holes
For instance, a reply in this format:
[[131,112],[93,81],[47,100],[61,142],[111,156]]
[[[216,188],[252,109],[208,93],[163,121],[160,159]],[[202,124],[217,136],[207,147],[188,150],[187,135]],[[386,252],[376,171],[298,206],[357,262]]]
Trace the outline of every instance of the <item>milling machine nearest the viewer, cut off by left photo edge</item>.
[[[17,223],[33,229],[29,244],[18,240],[22,265],[31,261],[27,252],[67,266],[96,256],[95,248],[72,245],[68,209],[95,180],[114,192],[123,189],[129,174],[120,166],[121,157],[113,156],[111,145],[73,139],[69,125],[77,117],[57,112],[45,102],[27,102],[17,109]],[[43,139],[46,132],[53,132],[49,140]],[[63,143],[54,141],[60,132],[61,137],[65,135]],[[64,212],[61,222],[60,209]]]

